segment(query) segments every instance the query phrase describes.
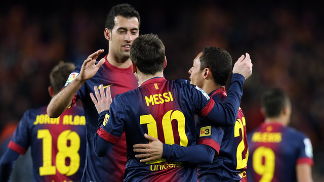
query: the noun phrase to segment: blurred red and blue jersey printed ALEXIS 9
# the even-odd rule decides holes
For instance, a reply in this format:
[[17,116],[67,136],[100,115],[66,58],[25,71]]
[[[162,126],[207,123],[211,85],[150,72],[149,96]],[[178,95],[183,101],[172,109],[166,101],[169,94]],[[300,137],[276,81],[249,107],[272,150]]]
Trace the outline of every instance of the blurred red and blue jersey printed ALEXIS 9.
[[248,180],[297,181],[296,165],[313,165],[310,140],[280,123],[262,123],[248,133]]

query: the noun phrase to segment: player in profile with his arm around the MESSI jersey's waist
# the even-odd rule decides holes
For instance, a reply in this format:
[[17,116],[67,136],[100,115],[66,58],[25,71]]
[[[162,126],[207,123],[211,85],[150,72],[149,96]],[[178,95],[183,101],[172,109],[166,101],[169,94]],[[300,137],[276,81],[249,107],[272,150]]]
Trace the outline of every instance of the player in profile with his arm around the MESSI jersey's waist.
[[[209,93],[215,102],[224,102],[227,96],[225,84],[230,77],[231,69],[232,58],[228,52],[220,48],[206,47],[193,60],[193,66],[189,70],[190,83]],[[216,144],[218,153],[212,164],[197,166],[198,181],[246,181],[248,146],[245,118],[241,109],[238,110],[236,121],[233,120],[233,123],[235,123],[233,126],[220,127],[218,125],[217,127],[197,116],[197,144],[211,147]],[[190,159],[188,161],[184,159],[192,155],[194,148],[186,149],[179,145],[161,144],[150,136],[147,139],[152,143],[134,146],[135,151],[144,152],[136,156],[147,157],[143,161],[163,157],[167,160],[191,163]],[[195,148],[197,147],[199,146]]]

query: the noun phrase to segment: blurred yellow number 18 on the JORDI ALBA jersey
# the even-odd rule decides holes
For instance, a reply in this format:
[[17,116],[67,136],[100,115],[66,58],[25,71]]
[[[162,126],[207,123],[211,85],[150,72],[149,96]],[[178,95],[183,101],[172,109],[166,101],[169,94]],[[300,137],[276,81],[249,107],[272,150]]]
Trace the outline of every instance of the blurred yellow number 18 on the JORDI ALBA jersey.
[[[57,138],[56,167],[52,165],[52,135],[48,129],[39,129],[37,139],[43,139],[43,166],[39,167],[39,175],[54,175],[56,168],[61,174],[67,176],[74,174],[80,165],[80,137],[75,131],[65,130]],[[68,141],[70,142],[69,146]],[[66,166],[65,159],[70,159]]]

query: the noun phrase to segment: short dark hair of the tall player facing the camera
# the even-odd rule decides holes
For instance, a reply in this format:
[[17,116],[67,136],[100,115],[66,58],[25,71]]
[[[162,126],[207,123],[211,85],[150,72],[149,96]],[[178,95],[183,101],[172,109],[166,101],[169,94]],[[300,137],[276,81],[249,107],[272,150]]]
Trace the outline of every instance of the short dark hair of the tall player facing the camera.
[[120,4],[112,7],[106,18],[106,28],[112,30],[115,26],[115,17],[123,16],[125,18],[133,18],[136,17],[138,20],[138,27],[141,25],[140,14],[129,4]]

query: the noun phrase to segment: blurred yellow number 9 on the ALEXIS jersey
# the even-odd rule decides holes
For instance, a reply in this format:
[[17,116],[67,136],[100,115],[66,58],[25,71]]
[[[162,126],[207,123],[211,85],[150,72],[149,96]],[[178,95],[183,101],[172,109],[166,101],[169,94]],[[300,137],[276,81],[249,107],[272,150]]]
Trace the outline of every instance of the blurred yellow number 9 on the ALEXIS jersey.
[[[262,160],[264,159],[264,164]],[[253,153],[253,169],[262,175],[261,182],[271,181],[274,174],[275,155],[267,147],[259,147]]]

